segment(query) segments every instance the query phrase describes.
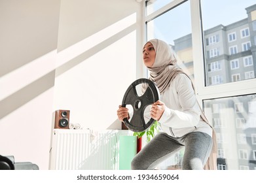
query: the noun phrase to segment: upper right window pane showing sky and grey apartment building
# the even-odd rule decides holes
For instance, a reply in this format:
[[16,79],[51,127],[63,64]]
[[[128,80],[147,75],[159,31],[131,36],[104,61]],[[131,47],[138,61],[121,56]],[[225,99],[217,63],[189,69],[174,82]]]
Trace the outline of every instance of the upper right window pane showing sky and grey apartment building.
[[[255,78],[256,52],[251,48],[256,44],[255,1],[202,0],[201,10],[206,86]],[[246,65],[245,57],[252,59]],[[215,61],[220,62],[221,70],[209,71],[207,67]]]

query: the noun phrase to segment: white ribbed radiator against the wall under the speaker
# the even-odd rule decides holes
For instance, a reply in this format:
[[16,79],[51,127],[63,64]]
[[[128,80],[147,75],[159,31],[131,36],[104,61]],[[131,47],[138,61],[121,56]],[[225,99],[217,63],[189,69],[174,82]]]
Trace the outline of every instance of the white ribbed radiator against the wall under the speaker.
[[54,129],[50,149],[50,169],[119,169],[119,137],[130,131]]

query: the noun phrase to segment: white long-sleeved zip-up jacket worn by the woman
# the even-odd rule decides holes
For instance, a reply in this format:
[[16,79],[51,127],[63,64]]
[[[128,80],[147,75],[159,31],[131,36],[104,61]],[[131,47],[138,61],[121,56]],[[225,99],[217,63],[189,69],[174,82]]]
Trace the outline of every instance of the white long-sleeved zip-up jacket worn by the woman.
[[[184,74],[177,75],[170,87],[160,95],[166,108],[160,120],[162,131],[173,137],[182,137],[192,131],[201,131],[212,135],[210,125],[200,118],[201,110],[196,101],[191,80]],[[149,120],[149,108],[145,118]]]

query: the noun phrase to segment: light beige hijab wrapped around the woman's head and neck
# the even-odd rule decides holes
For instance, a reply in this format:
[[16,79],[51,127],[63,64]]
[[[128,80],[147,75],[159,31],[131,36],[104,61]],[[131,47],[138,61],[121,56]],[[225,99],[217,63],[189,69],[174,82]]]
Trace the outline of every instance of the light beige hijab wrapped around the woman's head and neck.
[[175,76],[184,72],[177,67],[177,59],[170,45],[159,39],[151,39],[148,42],[153,44],[156,52],[155,62],[152,67],[147,67],[150,71],[149,80],[155,82],[159,92],[163,93]]

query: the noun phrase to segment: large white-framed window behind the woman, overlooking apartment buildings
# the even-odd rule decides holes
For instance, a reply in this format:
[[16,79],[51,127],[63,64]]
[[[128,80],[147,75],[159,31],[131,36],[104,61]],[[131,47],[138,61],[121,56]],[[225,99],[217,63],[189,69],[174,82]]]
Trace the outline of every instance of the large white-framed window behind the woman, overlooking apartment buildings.
[[[145,41],[162,39],[194,80],[217,132],[218,169],[256,169],[255,0],[145,3]],[[182,152],[165,167],[181,168]]]

